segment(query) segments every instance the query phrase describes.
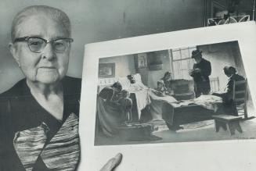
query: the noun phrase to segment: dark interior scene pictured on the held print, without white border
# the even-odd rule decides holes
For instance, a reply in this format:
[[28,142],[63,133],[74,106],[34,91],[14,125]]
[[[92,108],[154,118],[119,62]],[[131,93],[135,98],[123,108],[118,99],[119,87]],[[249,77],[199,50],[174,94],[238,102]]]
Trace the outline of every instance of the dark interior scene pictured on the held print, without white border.
[[95,145],[256,137],[238,41],[99,59]]

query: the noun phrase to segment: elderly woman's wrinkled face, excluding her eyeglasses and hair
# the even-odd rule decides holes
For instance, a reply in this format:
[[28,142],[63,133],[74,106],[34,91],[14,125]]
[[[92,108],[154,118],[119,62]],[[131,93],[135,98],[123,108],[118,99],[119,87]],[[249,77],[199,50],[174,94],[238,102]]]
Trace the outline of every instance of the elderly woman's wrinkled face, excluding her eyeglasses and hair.
[[[67,30],[59,21],[46,14],[27,17],[19,24],[17,37],[41,37],[47,41],[68,37]],[[42,84],[55,84],[67,73],[70,46],[66,52],[56,53],[51,43],[40,53],[31,52],[27,41],[10,45],[10,51],[27,80]]]

